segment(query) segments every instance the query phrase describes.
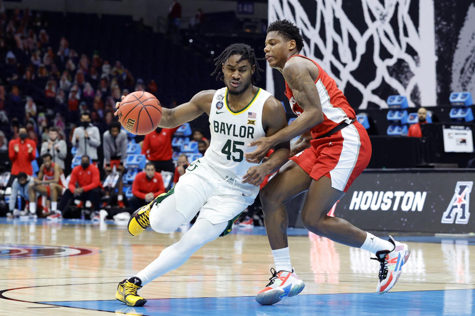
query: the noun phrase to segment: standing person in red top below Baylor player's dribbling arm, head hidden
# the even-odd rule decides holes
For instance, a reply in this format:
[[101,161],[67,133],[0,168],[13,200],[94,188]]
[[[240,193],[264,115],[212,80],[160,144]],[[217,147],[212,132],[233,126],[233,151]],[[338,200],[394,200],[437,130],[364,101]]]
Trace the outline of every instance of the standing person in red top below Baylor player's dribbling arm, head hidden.
[[175,164],[172,160],[172,137],[177,129],[178,127],[158,127],[153,132],[145,135],[142,145],[142,154],[145,155],[148,160],[153,162],[157,172],[162,170],[170,172],[175,171]]

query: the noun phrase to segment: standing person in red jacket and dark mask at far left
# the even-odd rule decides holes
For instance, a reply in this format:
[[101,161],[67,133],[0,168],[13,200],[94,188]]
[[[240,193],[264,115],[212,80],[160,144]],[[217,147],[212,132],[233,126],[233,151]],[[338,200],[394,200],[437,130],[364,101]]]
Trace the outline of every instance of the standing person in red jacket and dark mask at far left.
[[[19,172],[25,172],[28,175],[33,174],[31,162],[36,158],[36,144],[28,139],[25,127],[18,129],[20,138],[12,139],[8,144],[8,157],[11,160],[11,175],[16,176]],[[15,178],[15,177],[12,177]],[[11,179],[13,181],[13,179]]]

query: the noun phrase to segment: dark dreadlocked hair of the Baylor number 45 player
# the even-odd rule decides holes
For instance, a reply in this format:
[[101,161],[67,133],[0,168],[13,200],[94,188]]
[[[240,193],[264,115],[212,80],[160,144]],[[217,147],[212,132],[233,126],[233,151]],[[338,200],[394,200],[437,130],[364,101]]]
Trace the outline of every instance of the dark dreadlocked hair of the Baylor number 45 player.
[[224,81],[224,74],[222,71],[223,64],[232,55],[241,55],[241,58],[238,60],[238,62],[242,60],[249,61],[249,63],[251,64],[251,69],[254,69],[254,74],[251,77],[252,84],[261,79],[261,75],[259,74],[259,72],[262,72],[264,70],[262,70],[262,68],[259,67],[259,64],[257,63],[258,59],[256,58],[256,54],[254,53],[254,49],[251,46],[243,43],[235,43],[229,45],[223,50],[221,55],[214,59],[214,65],[216,66],[216,68],[211,73],[211,76],[216,76],[216,80],[219,79],[221,81]]

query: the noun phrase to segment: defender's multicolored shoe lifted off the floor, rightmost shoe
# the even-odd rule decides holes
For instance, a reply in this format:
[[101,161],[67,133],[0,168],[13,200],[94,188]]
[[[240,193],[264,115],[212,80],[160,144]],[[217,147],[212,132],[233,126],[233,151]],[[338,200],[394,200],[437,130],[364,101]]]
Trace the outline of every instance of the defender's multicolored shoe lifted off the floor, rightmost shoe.
[[407,262],[411,254],[411,249],[407,244],[398,242],[391,236],[389,236],[388,240],[394,245],[394,248],[391,251],[378,251],[376,258],[371,258],[380,262],[379,282],[376,288],[378,294],[386,293],[396,284],[397,279],[401,275],[402,266]]

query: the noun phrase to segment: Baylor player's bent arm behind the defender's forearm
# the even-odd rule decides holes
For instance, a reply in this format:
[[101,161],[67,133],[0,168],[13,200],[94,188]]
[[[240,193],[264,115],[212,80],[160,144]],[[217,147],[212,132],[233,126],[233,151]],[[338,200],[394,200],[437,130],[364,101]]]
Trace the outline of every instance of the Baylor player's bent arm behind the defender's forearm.
[[[279,130],[287,126],[284,107],[272,96],[269,97],[264,104],[262,116],[262,125],[266,130],[267,137],[276,134]],[[244,175],[242,182],[251,183],[256,186],[260,185],[266,175],[277,171],[288,160],[288,154],[290,152],[289,147],[289,141],[284,141],[275,145],[274,152],[269,156],[269,159],[260,165],[250,167]],[[246,160],[254,163],[259,163],[261,161],[261,159]]]

